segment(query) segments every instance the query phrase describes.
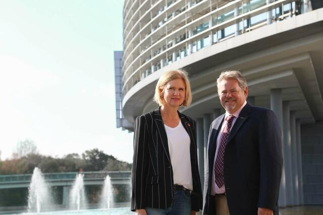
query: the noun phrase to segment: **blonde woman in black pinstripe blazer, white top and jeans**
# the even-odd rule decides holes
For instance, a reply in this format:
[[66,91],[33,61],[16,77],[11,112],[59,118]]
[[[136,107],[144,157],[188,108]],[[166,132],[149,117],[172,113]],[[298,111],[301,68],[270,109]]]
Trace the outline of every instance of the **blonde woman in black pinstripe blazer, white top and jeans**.
[[136,119],[131,210],[138,215],[195,214],[202,207],[196,127],[178,112],[192,101],[187,73],[163,74],[154,101],[160,107]]

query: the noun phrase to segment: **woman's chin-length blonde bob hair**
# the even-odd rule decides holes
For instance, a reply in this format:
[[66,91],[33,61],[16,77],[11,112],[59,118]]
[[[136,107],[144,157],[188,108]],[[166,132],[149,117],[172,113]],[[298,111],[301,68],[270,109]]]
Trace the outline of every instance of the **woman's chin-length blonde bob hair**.
[[192,103],[192,91],[190,81],[188,79],[188,74],[186,73],[186,71],[178,69],[167,71],[158,79],[153,100],[160,106],[166,104],[163,96],[165,85],[167,85],[167,83],[175,79],[182,79],[185,82],[185,98],[182,105],[186,107]]

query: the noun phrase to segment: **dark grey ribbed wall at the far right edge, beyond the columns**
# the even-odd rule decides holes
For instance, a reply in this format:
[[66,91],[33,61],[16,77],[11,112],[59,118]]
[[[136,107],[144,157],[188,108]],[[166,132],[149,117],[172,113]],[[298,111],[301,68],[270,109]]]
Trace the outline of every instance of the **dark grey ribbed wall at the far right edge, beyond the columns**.
[[323,121],[301,126],[304,204],[323,204]]

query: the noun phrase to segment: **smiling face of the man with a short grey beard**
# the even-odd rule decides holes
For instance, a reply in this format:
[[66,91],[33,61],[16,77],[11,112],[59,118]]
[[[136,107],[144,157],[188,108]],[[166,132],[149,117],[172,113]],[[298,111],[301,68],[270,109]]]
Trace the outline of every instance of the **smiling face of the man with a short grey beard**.
[[227,112],[233,114],[246,101],[248,88],[244,90],[240,88],[238,82],[233,79],[222,80],[218,85],[218,94],[222,106]]

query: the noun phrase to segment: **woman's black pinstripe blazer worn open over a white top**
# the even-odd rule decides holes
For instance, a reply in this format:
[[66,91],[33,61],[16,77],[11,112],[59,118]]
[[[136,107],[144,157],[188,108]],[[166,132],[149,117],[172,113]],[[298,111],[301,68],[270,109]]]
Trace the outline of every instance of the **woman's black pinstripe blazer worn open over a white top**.
[[[178,112],[190,136],[193,195],[192,210],[202,209],[202,191],[198,174],[195,122]],[[131,210],[145,207],[168,208],[173,193],[173,169],[167,134],[159,108],[138,116],[134,129]]]

